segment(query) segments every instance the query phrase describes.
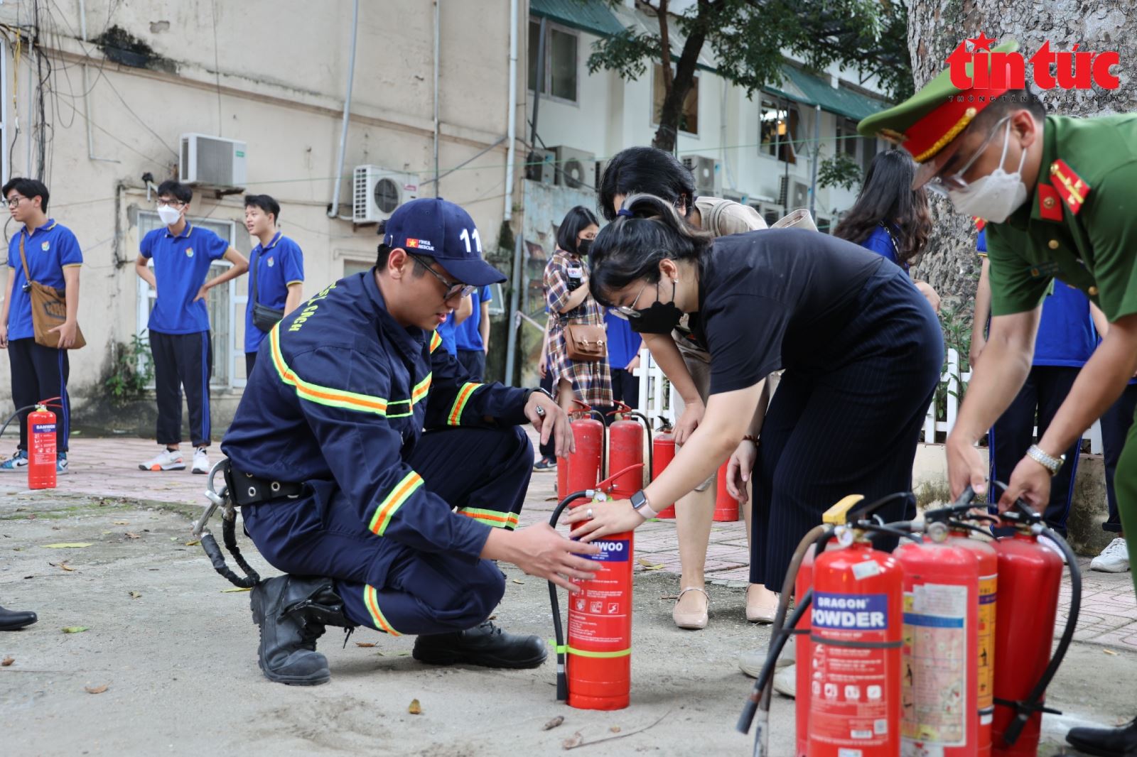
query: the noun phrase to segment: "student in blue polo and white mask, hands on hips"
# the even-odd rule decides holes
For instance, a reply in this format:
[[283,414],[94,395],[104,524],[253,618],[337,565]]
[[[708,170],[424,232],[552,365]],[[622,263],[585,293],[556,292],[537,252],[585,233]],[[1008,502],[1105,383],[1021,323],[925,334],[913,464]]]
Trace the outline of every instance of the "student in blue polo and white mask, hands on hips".
[[[208,228],[185,219],[193,191],[177,182],[158,186],[158,217],[166,224],[142,238],[134,261],[139,277],[158,296],[150,311],[150,353],[153,356],[158,399],[158,443],[155,457],[140,463],[143,471],[184,471],[182,443],[182,388],[190,408],[193,473],[209,473],[209,376],[213,343],[209,335],[208,292],[249,269],[249,261]],[[209,265],[224,258],[233,264],[206,281]],[[153,260],[153,269],[147,264]]]

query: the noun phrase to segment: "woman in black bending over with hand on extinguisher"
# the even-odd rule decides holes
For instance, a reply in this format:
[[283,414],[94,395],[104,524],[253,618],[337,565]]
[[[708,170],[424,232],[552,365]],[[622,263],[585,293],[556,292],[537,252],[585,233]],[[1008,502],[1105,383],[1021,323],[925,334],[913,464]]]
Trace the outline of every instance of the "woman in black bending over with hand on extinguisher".
[[[736,488],[757,476],[750,581],[779,591],[794,548],[830,505],[911,489],[944,348],[935,313],[898,267],[794,228],[712,239],[649,194],[624,202],[591,263],[594,297],[641,331],[667,333],[698,314],[690,321],[711,352],[711,396],[663,474],[631,500],[576,508],[566,518],[574,536],[638,526],[653,502],[673,501],[732,457]],[[762,380],[780,368],[761,443],[744,444]],[[914,513],[899,505],[880,515]]]

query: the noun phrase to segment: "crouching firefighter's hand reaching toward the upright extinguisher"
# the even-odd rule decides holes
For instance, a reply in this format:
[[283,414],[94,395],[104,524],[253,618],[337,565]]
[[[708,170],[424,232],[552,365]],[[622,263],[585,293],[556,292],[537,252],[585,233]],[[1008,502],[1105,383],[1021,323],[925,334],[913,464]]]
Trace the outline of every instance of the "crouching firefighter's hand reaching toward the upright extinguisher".
[[567,589],[580,591],[570,579],[588,580],[601,564],[580,555],[597,555],[600,548],[565,539],[548,523],[539,523],[518,531],[493,529],[482,549],[482,557],[513,563],[529,575],[551,581]]

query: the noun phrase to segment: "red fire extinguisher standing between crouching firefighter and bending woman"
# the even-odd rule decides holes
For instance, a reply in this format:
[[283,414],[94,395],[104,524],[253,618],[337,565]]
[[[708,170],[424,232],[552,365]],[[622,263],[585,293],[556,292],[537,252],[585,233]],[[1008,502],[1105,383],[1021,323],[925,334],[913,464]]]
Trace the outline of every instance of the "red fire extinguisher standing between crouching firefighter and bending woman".
[[[616,472],[597,485],[611,489],[629,475],[642,475],[642,463]],[[637,486],[638,489],[638,486]],[[621,494],[623,496],[623,494]],[[566,506],[587,507],[607,498],[603,491],[576,491],[563,499],[549,524],[556,526]],[[557,643],[557,699],[578,709],[622,709],[631,697],[632,532],[592,540],[601,563],[591,579],[573,579],[581,591],[568,597],[568,640],[564,641],[556,584],[549,582]]]

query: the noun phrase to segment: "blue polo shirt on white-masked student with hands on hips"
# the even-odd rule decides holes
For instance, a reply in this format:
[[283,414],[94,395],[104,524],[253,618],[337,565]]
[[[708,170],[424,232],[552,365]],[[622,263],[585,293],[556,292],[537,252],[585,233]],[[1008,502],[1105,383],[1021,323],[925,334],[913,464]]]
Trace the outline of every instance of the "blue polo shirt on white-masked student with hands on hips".
[[185,222],[177,236],[168,226],[155,228],[139,246],[143,258],[153,259],[158,299],[150,313],[150,331],[160,334],[194,334],[209,331],[205,300],[193,301],[209,275],[209,264],[219,260],[229,242],[208,228]]

